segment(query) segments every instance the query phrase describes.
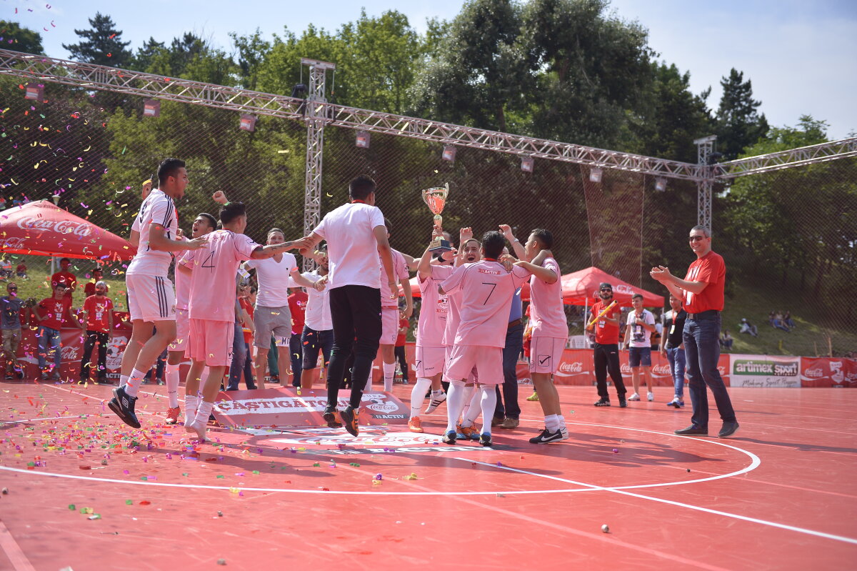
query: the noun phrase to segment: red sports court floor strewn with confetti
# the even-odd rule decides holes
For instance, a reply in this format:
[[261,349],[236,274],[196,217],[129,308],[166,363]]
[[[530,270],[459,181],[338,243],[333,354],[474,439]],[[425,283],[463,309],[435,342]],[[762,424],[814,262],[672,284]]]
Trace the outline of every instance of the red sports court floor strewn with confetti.
[[571,438],[550,445],[527,442],[542,423],[522,390],[493,448],[437,443],[445,406],[422,436],[211,430],[194,448],[161,424],[162,387],[138,403],[145,432],[106,409],[108,387],[0,387],[2,569],[857,564],[857,391],[730,388],[728,439],[674,436],[690,410],[668,389],[620,409],[560,387]]

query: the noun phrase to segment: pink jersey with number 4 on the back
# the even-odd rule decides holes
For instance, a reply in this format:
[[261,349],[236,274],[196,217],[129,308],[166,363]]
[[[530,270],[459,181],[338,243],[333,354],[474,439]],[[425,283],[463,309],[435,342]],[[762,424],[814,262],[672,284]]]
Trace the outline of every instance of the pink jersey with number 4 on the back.
[[190,278],[190,318],[235,322],[235,276],[238,265],[261,245],[243,234],[215,230],[205,236],[207,248],[189,250],[180,262],[193,270]]

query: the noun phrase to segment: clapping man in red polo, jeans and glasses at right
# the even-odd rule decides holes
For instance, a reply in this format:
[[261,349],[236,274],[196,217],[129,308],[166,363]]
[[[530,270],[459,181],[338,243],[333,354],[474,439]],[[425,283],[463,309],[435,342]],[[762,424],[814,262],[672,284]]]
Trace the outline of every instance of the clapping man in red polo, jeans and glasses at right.
[[708,393],[714,394],[723,426],[717,436],[725,438],[738,430],[732,400],[717,361],[720,358],[720,312],[723,310],[723,287],[726,285],[726,264],[721,255],[711,250],[711,232],[703,225],[691,228],[691,249],[697,259],[687,268],[685,279],[669,273],[668,267],[651,268],[653,279],[666,285],[670,293],[682,300],[687,312],[682,339],[685,342],[688,392],[691,394],[693,416],[691,425],[676,430],[678,435],[708,435]]

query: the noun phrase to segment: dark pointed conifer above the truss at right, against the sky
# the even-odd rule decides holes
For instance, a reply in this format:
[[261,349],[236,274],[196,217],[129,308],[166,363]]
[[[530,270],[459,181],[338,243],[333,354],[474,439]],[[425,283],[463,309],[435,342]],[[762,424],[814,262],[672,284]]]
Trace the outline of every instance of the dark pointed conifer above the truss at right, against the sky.
[[717,150],[727,159],[756,144],[768,133],[768,120],[759,114],[761,101],[752,99],[752,81],[744,81],[744,72],[732,68],[720,81],[723,94],[716,113]]

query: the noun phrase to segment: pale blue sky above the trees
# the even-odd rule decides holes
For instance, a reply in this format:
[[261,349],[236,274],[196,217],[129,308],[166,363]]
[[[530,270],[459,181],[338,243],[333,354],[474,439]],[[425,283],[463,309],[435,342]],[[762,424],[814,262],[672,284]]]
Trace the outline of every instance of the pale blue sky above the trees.
[[[111,15],[132,48],[149,36],[169,41],[193,31],[228,49],[229,32],[259,27],[270,36],[284,26],[300,32],[309,23],[335,30],[356,20],[361,7],[369,15],[397,9],[423,31],[426,18],[452,19],[461,5],[461,0],[0,0],[0,19],[38,30],[48,55],[68,57],[62,44],[75,43],[75,28],[89,27],[87,18],[97,11]],[[772,125],[794,125],[800,115],[810,114],[830,123],[831,138],[857,132],[857,0],[613,0],[611,7],[649,29],[650,46],[661,59],[691,72],[694,93],[712,87],[710,107],[720,99],[720,78],[734,67],[752,80]]]

